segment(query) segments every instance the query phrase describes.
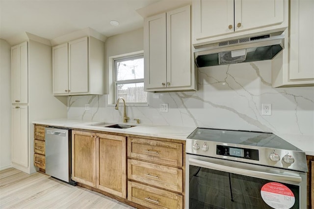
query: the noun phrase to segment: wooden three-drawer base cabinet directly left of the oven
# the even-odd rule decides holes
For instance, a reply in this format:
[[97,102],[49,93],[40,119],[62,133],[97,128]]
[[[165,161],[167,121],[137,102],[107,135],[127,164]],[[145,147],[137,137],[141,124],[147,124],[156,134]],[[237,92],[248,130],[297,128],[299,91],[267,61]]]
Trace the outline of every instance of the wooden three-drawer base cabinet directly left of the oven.
[[185,141],[128,138],[128,200],[151,209],[183,209]]

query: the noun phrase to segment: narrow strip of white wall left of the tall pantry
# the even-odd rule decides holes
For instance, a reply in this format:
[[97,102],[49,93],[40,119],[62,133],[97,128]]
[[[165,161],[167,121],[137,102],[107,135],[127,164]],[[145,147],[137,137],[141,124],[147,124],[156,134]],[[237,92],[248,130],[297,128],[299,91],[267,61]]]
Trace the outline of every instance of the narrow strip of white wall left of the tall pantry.
[[11,167],[11,46],[0,39],[0,170]]

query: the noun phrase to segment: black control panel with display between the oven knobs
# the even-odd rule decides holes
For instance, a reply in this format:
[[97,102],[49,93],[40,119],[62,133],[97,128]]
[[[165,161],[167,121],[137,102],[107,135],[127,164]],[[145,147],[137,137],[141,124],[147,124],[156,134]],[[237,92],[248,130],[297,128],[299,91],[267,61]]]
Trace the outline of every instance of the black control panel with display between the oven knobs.
[[259,150],[217,145],[216,154],[245,159],[259,160]]

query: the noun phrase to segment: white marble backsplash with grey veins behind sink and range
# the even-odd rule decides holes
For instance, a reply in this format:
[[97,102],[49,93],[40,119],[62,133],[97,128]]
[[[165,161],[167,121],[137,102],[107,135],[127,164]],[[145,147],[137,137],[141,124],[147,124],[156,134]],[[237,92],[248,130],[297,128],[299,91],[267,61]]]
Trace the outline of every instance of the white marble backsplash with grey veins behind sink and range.
[[[314,87],[272,88],[270,60],[200,68],[198,82],[196,92],[148,93],[148,106],[127,107],[130,122],[314,137]],[[121,123],[123,108],[107,101],[107,95],[69,97],[68,118]],[[169,111],[159,112],[160,103]],[[272,104],[272,115],[262,115],[262,104]]]

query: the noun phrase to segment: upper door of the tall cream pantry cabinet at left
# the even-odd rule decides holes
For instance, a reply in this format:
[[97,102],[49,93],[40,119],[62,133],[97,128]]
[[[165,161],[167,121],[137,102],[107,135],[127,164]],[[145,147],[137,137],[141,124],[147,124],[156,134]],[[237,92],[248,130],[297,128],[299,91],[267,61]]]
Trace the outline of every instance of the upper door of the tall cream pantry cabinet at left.
[[28,102],[28,51],[27,42],[11,48],[12,103]]

